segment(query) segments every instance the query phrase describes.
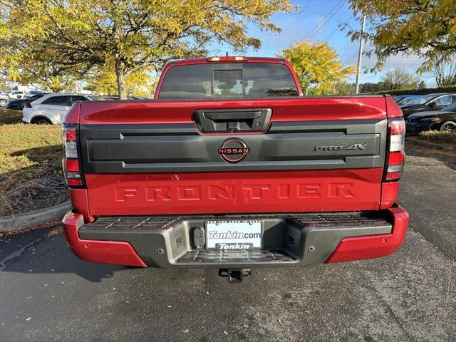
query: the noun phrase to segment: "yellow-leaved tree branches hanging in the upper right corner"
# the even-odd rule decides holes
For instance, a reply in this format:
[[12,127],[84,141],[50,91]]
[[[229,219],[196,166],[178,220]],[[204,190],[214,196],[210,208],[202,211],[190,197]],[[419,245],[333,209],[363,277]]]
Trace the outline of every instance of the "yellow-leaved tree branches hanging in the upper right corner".
[[[455,0],[351,0],[358,19],[366,15],[368,30],[363,38],[370,41],[381,69],[385,59],[397,53],[418,54],[429,70],[439,58],[456,53]],[[361,32],[349,31],[353,40]]]

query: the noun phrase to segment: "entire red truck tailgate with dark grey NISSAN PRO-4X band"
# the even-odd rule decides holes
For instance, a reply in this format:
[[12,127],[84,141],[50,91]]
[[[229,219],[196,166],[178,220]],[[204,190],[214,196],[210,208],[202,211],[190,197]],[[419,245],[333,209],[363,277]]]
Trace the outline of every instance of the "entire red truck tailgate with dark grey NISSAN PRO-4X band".
[[375,210],[386,130],[383,97],[81,103],[90,214]]

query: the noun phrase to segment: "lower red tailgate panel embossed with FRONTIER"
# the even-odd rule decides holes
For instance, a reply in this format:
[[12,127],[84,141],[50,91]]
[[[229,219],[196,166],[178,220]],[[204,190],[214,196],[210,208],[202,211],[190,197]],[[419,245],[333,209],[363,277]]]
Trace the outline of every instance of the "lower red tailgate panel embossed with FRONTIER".
[[86,174],[90,215],[377,210],[383,168]]

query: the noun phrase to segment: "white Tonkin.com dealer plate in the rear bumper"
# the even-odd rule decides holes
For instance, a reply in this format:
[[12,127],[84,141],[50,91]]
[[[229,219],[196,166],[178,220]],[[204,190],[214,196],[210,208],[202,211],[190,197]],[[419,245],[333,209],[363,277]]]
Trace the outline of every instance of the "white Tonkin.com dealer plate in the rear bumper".
[[206,248],[242,250],[261,248],[263,227],[258,220],[206,222]]

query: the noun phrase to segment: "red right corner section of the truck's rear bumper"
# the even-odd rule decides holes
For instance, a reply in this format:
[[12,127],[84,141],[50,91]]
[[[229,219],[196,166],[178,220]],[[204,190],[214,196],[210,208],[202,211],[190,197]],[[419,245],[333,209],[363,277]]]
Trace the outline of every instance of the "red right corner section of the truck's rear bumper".
[[368,237],[342,239],[326,263],[386,257],[403,243],[408,226],[408,213],[402,207],[389,209],[393,215],[393,232]]

